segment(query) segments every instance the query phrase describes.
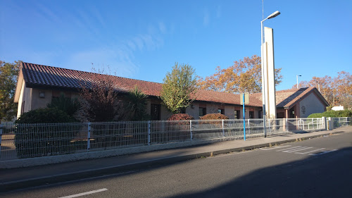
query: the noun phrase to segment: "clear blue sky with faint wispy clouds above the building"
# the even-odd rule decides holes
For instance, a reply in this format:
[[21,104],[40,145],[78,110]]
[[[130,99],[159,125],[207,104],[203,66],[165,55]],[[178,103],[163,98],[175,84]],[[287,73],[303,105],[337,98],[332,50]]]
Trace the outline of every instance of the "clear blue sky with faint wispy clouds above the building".
[[[206,77],[260,56],[262,1],[0,0],[0,59],[163,82],[175,62]],[[313,76],[352,73],[352,1],[265,1],[275,68],[289,89]]]

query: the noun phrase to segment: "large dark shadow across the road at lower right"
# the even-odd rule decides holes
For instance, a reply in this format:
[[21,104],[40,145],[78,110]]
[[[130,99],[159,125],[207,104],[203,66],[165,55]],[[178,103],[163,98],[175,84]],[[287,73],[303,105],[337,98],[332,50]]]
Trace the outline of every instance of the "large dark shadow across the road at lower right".
[[206,191],[178,194],[172,198],[351,197],[351,168],[352,147],[346,147],[329,154],[263,168]]

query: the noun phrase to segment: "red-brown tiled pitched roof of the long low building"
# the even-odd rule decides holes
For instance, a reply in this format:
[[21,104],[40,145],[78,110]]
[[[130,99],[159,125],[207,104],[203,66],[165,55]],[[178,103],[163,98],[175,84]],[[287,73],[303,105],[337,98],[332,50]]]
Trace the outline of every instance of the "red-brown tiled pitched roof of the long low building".
[[[89,73],[80,70],[70,70],[51,66],[42,66],[33,63],[22,63],[21,71],[27,87],[51,87],[80,89],[82,85],[91,85],[96,79],[107,79],[113,82],[114,88],[118,92],[128,92],[137,85],[144,94],[160,97],[162,84],[158,82],[148,82],[144,80],[134,80],[122,78],[114,75],[103,75],[99,73]],[[86,83],[86,84],[84,84]],[[288,89],[276,92],[277,107],[294,104],[304,94],[313,88]],[[308,92],[306,92],[308,90]],[[214,92],[199,89],[195,94],[197,101],[210,101],[222,104],[240,105],[240,95],[225,92]],[[248,106],[262,106],[261,93],[251,94]]]

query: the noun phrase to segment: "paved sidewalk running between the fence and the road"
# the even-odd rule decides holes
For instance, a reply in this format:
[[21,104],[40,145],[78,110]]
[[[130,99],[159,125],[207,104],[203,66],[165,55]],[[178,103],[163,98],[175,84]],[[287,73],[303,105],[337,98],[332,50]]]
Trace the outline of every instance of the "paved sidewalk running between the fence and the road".
[[141,154],[113,156],[103,159],[89,159],[26,168],[0,169],[0,192],[57,182],[67,182],[70,180],[80,180],[83,178],[93,178],[100,175],[143,169],[156,164],[170,164],[204,156],[268,147],[270,144],[275,145],[308,140],[314,137],[341,132],[352,132],[352,126],[327,131],[278,135],[267,138],[260,137],[247,139],[246,141],[232,140],[212,144],[200,144],[193,147],[149,151]]

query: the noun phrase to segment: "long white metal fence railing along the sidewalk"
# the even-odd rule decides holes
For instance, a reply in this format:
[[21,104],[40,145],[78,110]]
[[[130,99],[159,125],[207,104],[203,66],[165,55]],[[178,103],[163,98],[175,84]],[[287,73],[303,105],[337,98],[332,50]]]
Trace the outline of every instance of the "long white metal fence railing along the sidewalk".
[[[247,119],[246,135],[263,135],[263,119]],[[351,118],[268,120],[268,135],[351,125]],[[0,161],[169,142],[243,137],[243,120],[39,123],[0,126]]]

